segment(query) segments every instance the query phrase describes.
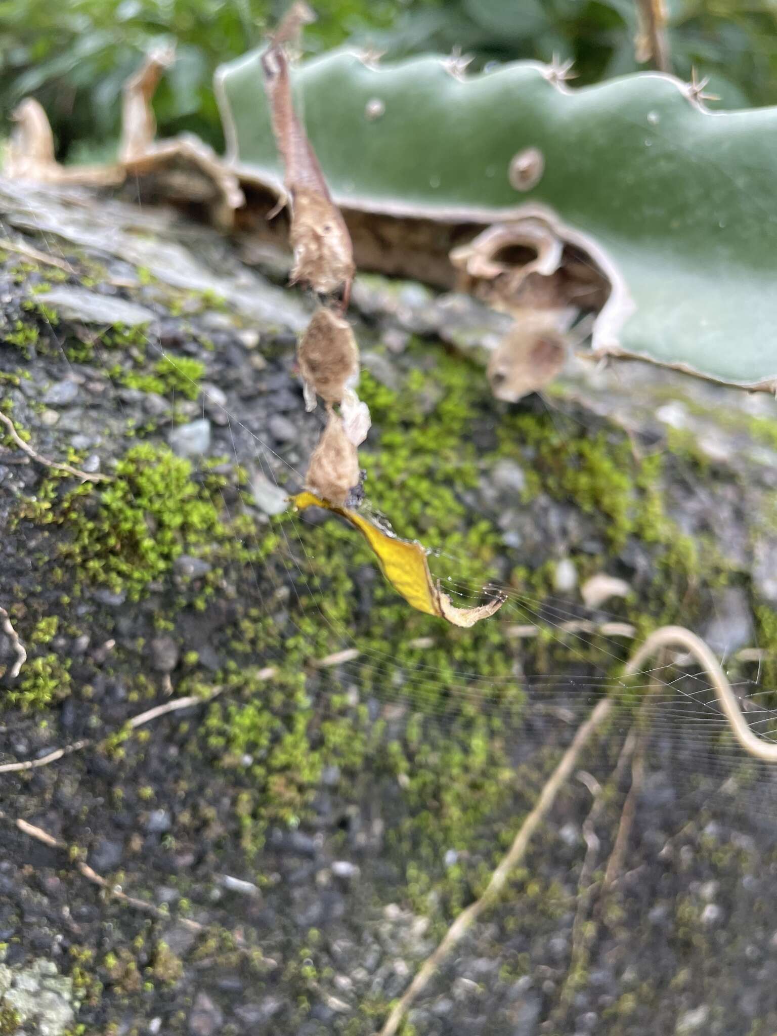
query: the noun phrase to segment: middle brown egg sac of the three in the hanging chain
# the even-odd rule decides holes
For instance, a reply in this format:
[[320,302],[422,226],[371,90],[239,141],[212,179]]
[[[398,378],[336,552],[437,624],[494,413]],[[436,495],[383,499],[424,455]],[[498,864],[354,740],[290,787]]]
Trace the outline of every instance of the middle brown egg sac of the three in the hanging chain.
[[358,381],[358,346],[350,324],[323,306],[313,314],[296,358],[308,410],[316,408],[317,395],[327,406],[341,403]]

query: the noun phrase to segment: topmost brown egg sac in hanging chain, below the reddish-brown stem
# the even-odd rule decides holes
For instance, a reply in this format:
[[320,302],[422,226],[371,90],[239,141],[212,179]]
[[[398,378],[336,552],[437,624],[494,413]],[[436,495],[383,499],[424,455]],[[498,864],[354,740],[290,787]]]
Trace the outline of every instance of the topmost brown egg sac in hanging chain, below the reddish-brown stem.
[[353,279],[353,249],[339,209],[321,191],[291,184],[291,282],[329,295]]

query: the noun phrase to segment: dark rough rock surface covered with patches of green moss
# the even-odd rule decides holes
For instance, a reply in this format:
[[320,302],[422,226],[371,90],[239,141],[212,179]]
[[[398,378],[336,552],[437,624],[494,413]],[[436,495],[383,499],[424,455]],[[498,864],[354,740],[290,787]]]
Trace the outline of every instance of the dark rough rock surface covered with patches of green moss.
[[[76,270],[0,246],[0,405],[42,457],[115,477],[0,438],[0,606],[28,653],[11,679],[0,627],[0,765],[82,745],[2,774],[0,1032],[371,1036],[607,691],[615,720],[409,1023],[775,1031],[777,777],[697,672],[644,712],[648,675],[618,679],[635,630],[682,622],[774,728],[775,401],[579,361],[552,413],[506,406],[472,362],[503,316],[359,278],[367,499],[451,593],[510,589],[453,630],[340,519],[286,508],[324,418],[277,268],[83,192],[0,181],[0,207]],[[121,326],[95,339],[90,313]]]

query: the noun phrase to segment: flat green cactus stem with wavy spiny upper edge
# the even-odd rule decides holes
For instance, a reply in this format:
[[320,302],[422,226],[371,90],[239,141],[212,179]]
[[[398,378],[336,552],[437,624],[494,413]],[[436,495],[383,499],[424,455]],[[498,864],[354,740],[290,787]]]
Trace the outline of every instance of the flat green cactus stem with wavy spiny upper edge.
[[[337,51],[294,70],[338,204],[488,226],[539,213],[604,270],[598,355],[777,388],[777,109],[715,114],[669,76],[570,89],[545,65],[474,76]],[[259,52],[222,66],[228,160],[280,191]],[[529,190],[513,159],[543,160]]]

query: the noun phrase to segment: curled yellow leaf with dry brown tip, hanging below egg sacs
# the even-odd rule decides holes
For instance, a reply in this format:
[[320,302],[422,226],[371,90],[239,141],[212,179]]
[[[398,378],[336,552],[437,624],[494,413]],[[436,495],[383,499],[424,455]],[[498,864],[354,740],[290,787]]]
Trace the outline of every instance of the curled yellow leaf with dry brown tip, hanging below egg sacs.
[[326,508],[349,521],[372,547],[380,570],[392,586],[419,611],[437,615],[454,626],[468,627],[481,618],[493,615],[505,603],[503,597],[495,597],[487,604],[474,608],[457,608],[440,588],[439,581],[433,581],[422,544],[412,540],[400,540],[355,511],[334,507],[310,492],[292,496],[291,502],[300,511],[310,507]]

